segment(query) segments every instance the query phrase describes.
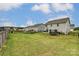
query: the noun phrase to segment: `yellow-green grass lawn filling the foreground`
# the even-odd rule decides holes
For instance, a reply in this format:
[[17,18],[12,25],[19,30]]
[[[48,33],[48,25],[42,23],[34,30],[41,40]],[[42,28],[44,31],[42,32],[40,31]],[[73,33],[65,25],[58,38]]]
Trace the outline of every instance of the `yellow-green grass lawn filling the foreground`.
[[50,36],[47,33],[9,34],[0,52],[3,56],[75,56],[79,55],[79,39],[72,35]]

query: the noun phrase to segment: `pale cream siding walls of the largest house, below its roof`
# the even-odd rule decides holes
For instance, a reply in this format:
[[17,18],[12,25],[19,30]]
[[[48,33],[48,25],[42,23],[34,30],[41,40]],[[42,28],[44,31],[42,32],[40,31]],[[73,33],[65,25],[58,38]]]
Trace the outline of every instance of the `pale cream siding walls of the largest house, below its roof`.
[[47,25],[48,28],[48,32],[50,30],[57,30],[58,32],[63,32],[64,34],[68,34],[68,32],[70,31],[70,24],[69,21],[67,21],[66,23],[61,23],[61,24],[50,24]]

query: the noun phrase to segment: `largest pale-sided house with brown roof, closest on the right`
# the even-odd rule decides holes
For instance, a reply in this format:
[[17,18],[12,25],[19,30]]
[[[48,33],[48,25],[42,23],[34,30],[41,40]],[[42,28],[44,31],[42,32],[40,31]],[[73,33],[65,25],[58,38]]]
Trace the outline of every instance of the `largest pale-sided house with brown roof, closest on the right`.
[[48,21],[46,23],[46,27],[48,32],[57,30],[58,32],[63,32],[64,34],[68,34],[70,32],[70,18],[63,17],[56,20]]

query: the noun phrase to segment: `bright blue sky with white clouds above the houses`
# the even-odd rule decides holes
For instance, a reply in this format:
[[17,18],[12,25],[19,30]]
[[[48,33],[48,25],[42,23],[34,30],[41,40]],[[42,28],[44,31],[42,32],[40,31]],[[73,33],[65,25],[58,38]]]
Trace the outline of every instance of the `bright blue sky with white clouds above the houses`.
[[0,26],[26,27],[68,16],[79,26],[78,3],[0,3]]

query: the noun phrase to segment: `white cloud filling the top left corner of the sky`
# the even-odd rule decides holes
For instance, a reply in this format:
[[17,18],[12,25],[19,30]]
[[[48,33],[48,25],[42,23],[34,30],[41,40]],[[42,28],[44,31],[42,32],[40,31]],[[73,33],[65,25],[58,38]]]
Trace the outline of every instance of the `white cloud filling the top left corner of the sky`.
[[22,5],[22,3],[0,3],[0,10],[1,11],[8,11],[13,8],[18,8]]

